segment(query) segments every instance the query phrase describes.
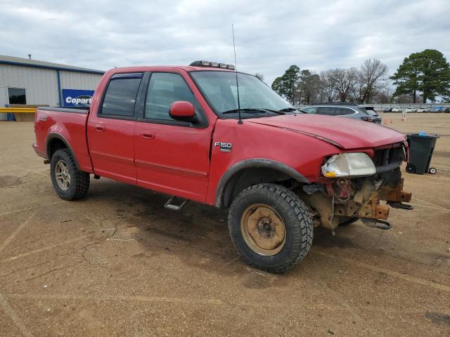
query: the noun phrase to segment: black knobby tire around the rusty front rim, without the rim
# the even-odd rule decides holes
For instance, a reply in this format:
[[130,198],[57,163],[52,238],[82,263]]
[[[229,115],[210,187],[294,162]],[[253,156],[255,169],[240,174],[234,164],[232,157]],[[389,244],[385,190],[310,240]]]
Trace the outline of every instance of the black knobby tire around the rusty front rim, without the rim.
[[[252,204],[271,206],[285,225],[285,243],[273,256],[263,256],[248,246],[241,232],[243,212]],[[228,227],[240,256],[245,262],[266,272],[285,272],[300,262],[311,248],[314,225],[304,202],[293,191],[275,184],[262,183],[243,190],[233,200]]]

